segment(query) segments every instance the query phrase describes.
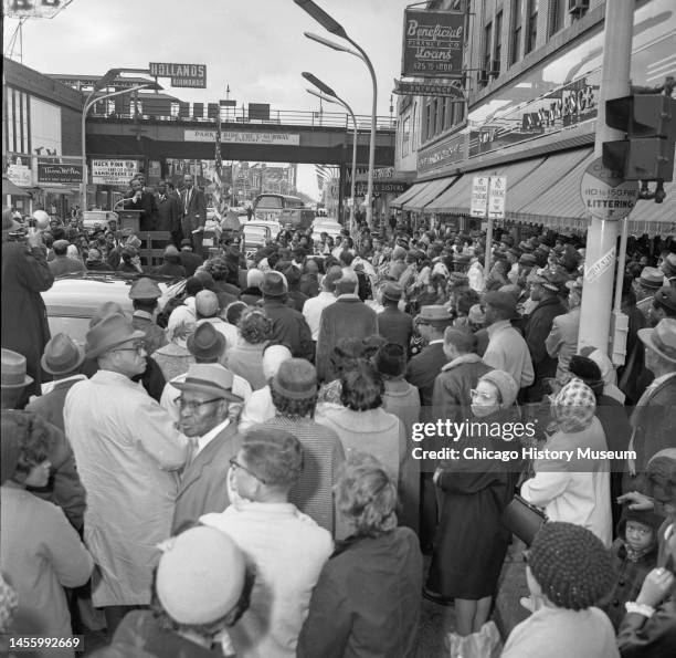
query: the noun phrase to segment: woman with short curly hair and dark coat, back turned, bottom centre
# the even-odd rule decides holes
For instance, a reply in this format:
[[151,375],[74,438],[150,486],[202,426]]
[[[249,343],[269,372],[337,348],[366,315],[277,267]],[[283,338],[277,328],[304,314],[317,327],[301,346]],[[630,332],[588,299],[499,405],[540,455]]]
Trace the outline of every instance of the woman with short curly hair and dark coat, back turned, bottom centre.
[[397,484],[376,458],[353,452],[336,502],[355,534],[324,565],[298,638],[298,658],[413,658],[422,555],[397,528]]

